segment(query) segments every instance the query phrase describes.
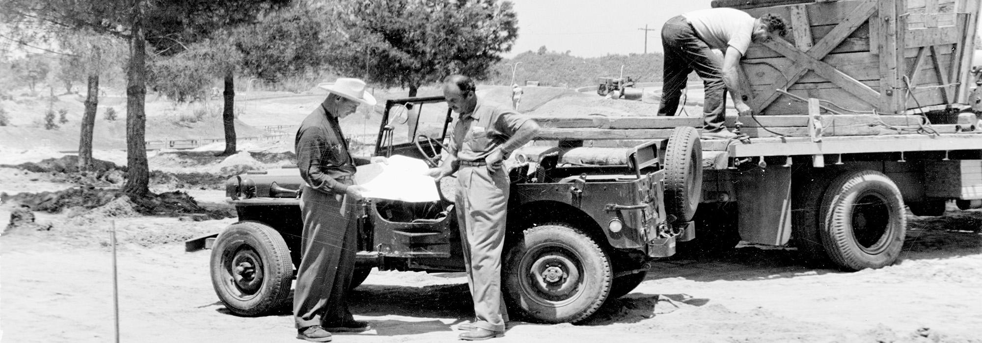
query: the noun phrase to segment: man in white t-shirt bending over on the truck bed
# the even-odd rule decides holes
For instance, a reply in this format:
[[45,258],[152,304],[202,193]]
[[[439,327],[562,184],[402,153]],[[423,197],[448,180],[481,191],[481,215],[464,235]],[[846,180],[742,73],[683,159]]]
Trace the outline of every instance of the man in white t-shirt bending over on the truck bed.
[[[727,130],[724,91],[729,89],[740,116],[750,115],[739,88],[739,59],[746,54],[750,42],[762,42],[773,34],[784,36],[785,22],[772,14],[754,19],[746,12],[730,8],[714,8],[684,13],[662,26],[662,47],[665,51],[665,84],[659,116],[675,116],[687,76],[694,70],[705,85],[702,106],[704,126],[702,137],[736,138]],[[723,51],[723,61],[712,49]]]

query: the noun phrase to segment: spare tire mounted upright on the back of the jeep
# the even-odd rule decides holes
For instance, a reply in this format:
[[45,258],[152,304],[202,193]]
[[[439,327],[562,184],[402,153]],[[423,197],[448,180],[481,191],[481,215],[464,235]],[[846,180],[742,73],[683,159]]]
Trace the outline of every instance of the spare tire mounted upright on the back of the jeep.
[[676,222],[691,221],[702,198],[702,143],[699,131],[672,130],[665,148],[665,212]]

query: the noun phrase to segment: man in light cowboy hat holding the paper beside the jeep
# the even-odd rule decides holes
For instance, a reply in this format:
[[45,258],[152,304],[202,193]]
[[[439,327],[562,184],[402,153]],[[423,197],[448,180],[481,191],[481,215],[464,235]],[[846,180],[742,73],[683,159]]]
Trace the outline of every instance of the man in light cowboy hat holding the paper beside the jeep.
[[365,331],[367,322],[348,311],[347,293],[355,270],[355,201],[364,190],[352,182],[355,161],[339,119],[358,105],[375,105],[357,78],[338,78],[319,87],[330,94],[297,131],[297,167],[306,184],[300,195],[303,233],[294,293],[297,338],[331,341],[331,332]]

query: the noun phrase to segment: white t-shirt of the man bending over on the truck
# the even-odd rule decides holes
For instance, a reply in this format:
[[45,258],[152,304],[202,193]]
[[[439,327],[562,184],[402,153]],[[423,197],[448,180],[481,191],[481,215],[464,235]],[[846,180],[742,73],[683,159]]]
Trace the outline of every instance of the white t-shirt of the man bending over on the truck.
[[727,47],[732,46],[741,55],[746,55],[746,49],[750,47],[753,23],[756,21],[746,12],[715,8],[683,13],[682,17],[688,20],[699,38],[710,48],[726,52]]

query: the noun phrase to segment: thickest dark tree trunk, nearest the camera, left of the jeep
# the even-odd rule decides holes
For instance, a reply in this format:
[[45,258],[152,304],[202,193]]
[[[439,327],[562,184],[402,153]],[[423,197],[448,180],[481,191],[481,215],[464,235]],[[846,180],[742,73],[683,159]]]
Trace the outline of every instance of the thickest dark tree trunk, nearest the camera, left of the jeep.
[[142,0],[136,0],[130,38],[130,66],[126,87],[127,180],[123,191],[145,196],[150,191],[150,167],[146,162],[146,36],[143,31]]

